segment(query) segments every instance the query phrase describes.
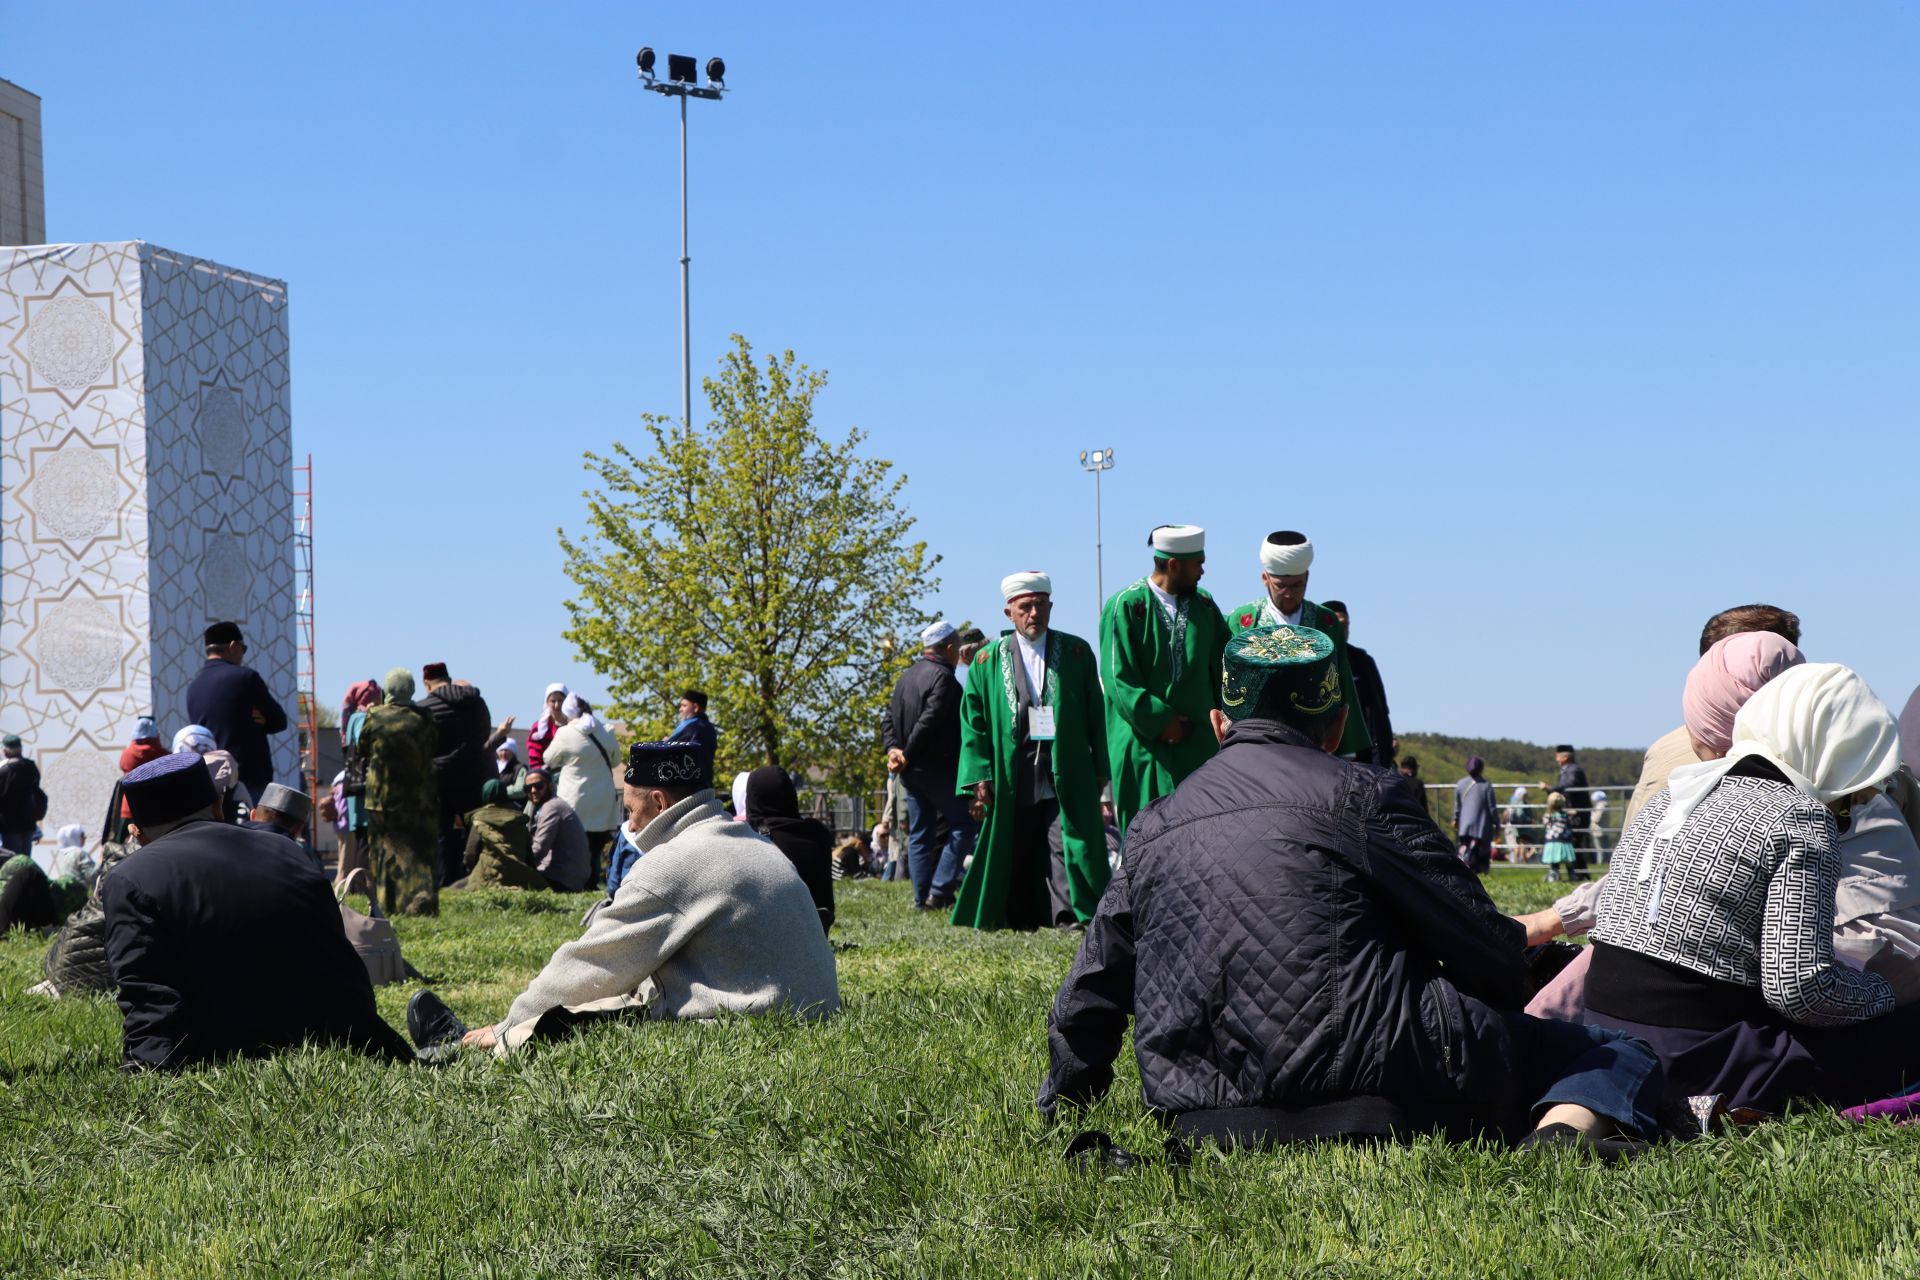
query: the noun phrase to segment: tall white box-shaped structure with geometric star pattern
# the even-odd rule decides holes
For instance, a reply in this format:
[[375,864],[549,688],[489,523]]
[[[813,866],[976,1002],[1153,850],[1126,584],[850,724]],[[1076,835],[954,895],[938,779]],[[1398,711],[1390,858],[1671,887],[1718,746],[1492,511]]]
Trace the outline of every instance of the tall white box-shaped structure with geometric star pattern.
[[186,723],[211,620],[292,716],[292,539],[284,284],[140,242],[0,249],[0,731],[48,835],[98,829],[136,716]]

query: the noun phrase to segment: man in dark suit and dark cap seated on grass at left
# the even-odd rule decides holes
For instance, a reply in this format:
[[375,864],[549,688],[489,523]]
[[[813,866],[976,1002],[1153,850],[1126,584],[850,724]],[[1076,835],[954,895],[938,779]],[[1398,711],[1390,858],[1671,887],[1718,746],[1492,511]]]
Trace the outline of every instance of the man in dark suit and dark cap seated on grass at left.
[[140,848],[106,883],[121,1067],[180,1069],[303,1042],[411,1059],[326,879],[292,842],[221,821],[200,756],[121,779]]

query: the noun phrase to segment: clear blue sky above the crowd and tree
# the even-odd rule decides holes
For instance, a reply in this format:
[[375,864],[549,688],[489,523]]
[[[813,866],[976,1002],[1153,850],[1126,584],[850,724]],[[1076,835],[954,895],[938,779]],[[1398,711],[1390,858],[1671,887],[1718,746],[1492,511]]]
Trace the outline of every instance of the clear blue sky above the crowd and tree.
[[[910,476],[935,606],[1050,568],[1092,633],[1160,522],[1258,591],[1319,547],[1404,729],[1644,745],[1764,599],[1920,681],[1920,10],[1822,4],[0,4],[48,230],[282,276],[321,683],[561,641],[580,455],[693,359],[828,368]],[[670,604],[670,593],[662,606]],[[904,624],[908,620],[883,620]],[[724,708],[718,708],[724,722]]]

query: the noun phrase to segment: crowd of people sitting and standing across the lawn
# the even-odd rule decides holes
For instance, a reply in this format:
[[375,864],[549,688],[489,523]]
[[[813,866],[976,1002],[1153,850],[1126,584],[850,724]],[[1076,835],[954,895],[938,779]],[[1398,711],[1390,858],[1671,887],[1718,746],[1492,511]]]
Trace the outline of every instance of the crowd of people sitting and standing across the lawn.
[[[954,925],[1083,935],[1046,1019],[1048,1117],[1110,1088],[1129,1023],[1144,1103],[1225,1146],[1438,1130],[1620,1157],[1716,1115],[1920,1086],[1920,691],[1897,722],[1853,670],[1807,660],[1793,614],[1715,614],[1609,873],[1590,877],[1605,796],[1563,745],[1542,860],[1572,892],[1509,917],[1482,875],[1519,800],[1501,810],[1469,760],[1442,833],[1346,606],[1308,599],[1313,543],[1269,533],[1261,597],[1225,612],[1200,587],[1204,530],[1160,526],[1148,551],[1096,643],[1050,626],[1043,570],[1000,581],[998,637],[922,631],[879,725],[900,806],[870,842],[835,844],[783,768],[718,789],[697,689],[666,741],[622,752],[553,685],[522,752],[444,664],[419,700],[403,668],[353,685],[323,806],[340,877],[365,867],[392,915],[461,887],[597,896],[476,1029],[428,990],[407,1038],[374,1013],[300,841],[303,796],[259,766],[276,720],[230,624],[207,631],[225,702],[196,720],[213,723],[173,750],[134,727],[125,846],[44,885],[10,860],[0,910],[92,921],[92,942],[73,921],[56,940],[50,994],[117,990],[129,1065],[301,1040],[434,1061],[603,1019],[826,1017],[833,885],[877,871]],[[17,747],[0,743],[0,835]],[[56,977],[88,965],[94,986]]]

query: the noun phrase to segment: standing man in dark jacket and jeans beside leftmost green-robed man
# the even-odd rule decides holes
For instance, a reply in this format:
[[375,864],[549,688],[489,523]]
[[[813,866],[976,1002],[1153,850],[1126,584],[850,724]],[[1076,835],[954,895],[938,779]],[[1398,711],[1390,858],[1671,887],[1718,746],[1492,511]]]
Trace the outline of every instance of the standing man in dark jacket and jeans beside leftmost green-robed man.
[[[947,910],[960,892],[977,823],[954,793],[960,770],[958,633],[935,622],[920,633],[922,654],[893,685],[881,720],[887,771],[906,789],[906,867],[916,910]],[[945,825],[947,837],[941,839]]]

